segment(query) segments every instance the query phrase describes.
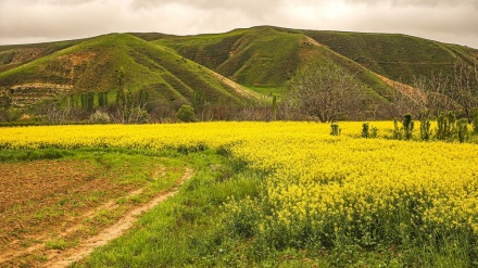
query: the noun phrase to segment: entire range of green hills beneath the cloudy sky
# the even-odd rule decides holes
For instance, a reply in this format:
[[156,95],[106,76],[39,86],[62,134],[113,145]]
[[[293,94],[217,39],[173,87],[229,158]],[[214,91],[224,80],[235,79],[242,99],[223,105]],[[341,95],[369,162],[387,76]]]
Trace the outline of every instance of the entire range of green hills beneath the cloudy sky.
[[16,107],[88,92],[108,92],[113,103],[123,69],[128,92],[147,92],[171,111],[198,95],[206,104],[241,107],[261,99],[259,93],[285,93],[314,60],[347,69],[365,86],[368,100],[388,104],[398,91],[413,94],[414,76],[451,75],[458,59],[474,66],[478,50],[405,35],[272,26],[197,36],[110,34],[0,46],[0,95],[10,94]]

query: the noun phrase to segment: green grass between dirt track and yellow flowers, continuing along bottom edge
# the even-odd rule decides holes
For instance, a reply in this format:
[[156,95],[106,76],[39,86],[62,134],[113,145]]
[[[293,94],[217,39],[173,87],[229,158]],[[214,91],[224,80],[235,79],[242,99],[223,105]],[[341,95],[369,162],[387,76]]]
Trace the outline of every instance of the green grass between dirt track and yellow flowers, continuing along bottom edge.
[[[298,237],[297,243],[288,241],[278,246],[260,234],[261,218],[268,217],[262,208],[264,203],[260,203],[266,174],[246,166],[237,168],[211,150],[178,157],[196,170],[179,194],[144,214],[126,235],[74,267],[473,266],[473,251],[467,246],[474,242],[453,235],[370,248],[347,237],[337,237],[329,245]],[[274,235],[290,234],[284,230]]]

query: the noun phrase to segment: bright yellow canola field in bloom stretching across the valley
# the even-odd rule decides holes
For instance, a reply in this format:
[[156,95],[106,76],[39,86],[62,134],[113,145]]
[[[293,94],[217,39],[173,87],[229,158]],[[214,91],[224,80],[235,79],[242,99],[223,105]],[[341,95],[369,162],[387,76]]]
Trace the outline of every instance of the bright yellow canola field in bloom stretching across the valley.
[[[393,127],[370,125],[380,133]],[[401,228],[478,233],[478,145],[362,139],[362,123],[340,127],[340,137],[316,123],[0,128],[0,148],[227,145],[232,157],[266,174],[261,228],[358,232],[362,239]]]

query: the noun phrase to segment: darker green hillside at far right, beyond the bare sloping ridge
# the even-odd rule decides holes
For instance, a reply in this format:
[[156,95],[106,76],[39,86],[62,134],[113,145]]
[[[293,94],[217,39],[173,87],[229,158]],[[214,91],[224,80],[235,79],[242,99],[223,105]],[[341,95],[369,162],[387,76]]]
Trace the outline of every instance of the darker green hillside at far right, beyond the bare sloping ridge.
[[451,75],[457,59],[468,63],[478,60],[476,49],[405,35],[317,30],[304,34],[377,74],[404,82],[417,75]]

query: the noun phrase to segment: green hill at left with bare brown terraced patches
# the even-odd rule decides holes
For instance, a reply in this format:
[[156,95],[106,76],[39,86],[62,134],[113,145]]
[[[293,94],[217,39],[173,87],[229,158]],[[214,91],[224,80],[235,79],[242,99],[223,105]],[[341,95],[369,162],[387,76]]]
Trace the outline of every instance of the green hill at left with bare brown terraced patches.
[[121,68],[126,90],[146,90],[150,97],[176,106],[192,102],[197,91],[203,93],[207,103],[241,104],[246,100],[200,64],[128,34],[91,38],[0,73],[0,87],[13,94],[25,89],[115,92]]

